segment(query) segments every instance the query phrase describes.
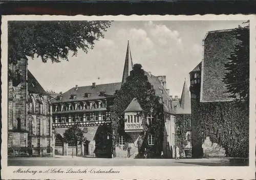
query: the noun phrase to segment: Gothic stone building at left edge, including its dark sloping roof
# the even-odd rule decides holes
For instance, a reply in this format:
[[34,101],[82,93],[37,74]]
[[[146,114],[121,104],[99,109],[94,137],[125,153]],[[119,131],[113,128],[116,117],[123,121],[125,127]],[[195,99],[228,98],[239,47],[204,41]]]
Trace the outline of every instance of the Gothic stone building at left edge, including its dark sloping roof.
[[28,70],[27,59],[8,68],[8,155],[50,156],[50,98]]

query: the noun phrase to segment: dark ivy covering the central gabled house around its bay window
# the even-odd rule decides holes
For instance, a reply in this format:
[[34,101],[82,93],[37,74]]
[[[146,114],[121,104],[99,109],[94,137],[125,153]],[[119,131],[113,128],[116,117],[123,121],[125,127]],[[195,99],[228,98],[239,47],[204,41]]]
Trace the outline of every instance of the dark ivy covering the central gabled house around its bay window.
[[[142,116],[142,126],[144,131],[141,136],[143,137],[143,145],[139,146],[139,153],[144,153],[144,149],[146,148],[146,134],[147,132],[154,131],[156,134],[156,151],[159,152],[159,148],[162,146],[158,143],[163,139],[163,118],[161,117],[161,104],[159,103],[159,97],[155,95],[155,89],[153,85],[148,81],[147,76],[144,73],[144,70],[141,69],[141,64],[134,64],[134,69],[131,71],[131,75],[127,77],[126,82],[122,84],[120,90],[116,92],[116,98],[113,101],[113,105],[110,106],[111,111],[111,128],[113,133],[113,149],[115,155],[115,147],[118,144],[119,131],[122,130],[120,126],[120,121],[124,121],[124,113],[125,108],[130,104],[130,102],[137,98],[141,108],[144,110]],[[156,121],[152,127],[149,127],[146,122],[146,117],[152,114],[152,116],[156,117]],[[161,122],[161,123],[160,123]]]

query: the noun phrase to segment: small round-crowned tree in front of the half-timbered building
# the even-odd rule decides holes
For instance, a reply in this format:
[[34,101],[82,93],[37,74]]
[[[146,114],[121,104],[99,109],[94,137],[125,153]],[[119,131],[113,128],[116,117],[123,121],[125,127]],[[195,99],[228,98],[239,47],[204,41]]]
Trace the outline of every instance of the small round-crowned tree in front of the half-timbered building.
[[80,129],[77,125],[66,129],[63,133],[63,140],[65,143],[72,144],[72,158],[74,156],[73,144],[77,144],[77,142],[84,142],[86,138],[84,137],[84,131]]

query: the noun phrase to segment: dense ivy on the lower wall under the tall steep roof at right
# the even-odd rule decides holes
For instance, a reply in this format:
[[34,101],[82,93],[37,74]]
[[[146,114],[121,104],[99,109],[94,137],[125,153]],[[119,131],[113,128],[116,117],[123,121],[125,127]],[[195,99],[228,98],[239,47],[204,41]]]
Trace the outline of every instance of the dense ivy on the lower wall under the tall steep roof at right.
[[202,137],[225,148],[230,157],[248,158],[249,118],[234,102],[200,103]]

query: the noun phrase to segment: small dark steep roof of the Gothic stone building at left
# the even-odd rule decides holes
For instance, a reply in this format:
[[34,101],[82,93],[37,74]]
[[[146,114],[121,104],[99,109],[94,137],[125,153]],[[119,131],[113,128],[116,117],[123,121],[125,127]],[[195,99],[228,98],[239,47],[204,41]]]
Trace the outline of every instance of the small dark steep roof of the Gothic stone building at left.
[[32,73],[28,70],[28,91],[31,93],[40,93],[43,95],[48,95]]

